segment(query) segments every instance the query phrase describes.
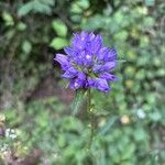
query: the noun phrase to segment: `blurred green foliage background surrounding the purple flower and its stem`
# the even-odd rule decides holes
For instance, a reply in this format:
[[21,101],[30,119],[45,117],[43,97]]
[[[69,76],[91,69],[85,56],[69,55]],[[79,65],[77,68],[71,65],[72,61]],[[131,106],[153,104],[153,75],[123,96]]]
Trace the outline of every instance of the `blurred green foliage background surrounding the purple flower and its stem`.
[[[76,117],[56,52],[77,31],[118,50],[119,80],[92,91],[91,151],[86,103]],[[0,1],[0,164],[164,165],[163,0]]]

